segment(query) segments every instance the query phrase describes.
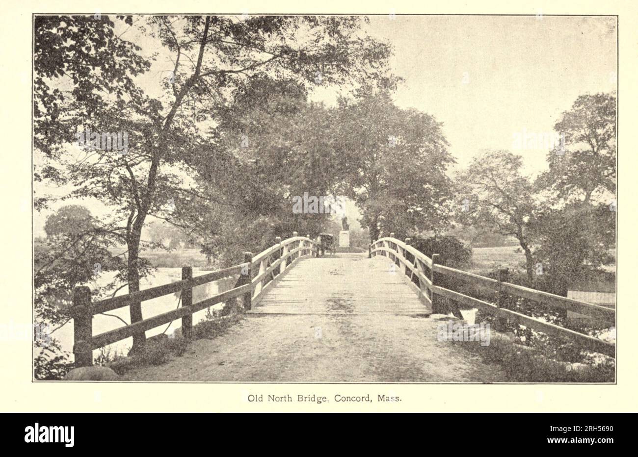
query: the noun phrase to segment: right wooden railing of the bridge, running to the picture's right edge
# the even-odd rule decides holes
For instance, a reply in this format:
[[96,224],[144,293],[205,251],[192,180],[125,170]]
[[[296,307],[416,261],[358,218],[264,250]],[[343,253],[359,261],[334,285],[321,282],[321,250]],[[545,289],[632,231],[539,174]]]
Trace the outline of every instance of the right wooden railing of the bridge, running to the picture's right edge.
[[[405,242],[402,242],[394,238],[394,233],[391,233],[390,237],[380,238],[369,245],[368,257],[372,258],[378,255],[386,256],[398,266],[398,271],[405,275],[408,283],[415,288],[419,293],[419,297],[433,312],[438,312],[441,309],[437,303],[438,297],[446,297],[457,303],[487,310],[494,316],[528,326],[547,335],[571,338],[582,345],[582,347],[593,351],[612,357],[616,356],[615,344],[503,308],[502,304],[506,294],[512,294],[528,300],[538,301],[552,308],[584,314],[588,317],[604,321],[604,323],[609,324],[609,326],[614,325],[616,321],[616,311],[612,308],[593,305],[591,303],[585,303],[584,301],[573,300],[560,295],[511,284],[507,282],[507,270],[505,269],[500,270],[499,279],[496,280],[439,265],[439,254],[433,254],[432,258],[429,258],[419,250],[410,246],[410,238],[406,238]],[[494,303],[488,303],[478,298],[445,289],[436,284],[434,280],[435,272],[493,289],[496,292],[496,299]]]

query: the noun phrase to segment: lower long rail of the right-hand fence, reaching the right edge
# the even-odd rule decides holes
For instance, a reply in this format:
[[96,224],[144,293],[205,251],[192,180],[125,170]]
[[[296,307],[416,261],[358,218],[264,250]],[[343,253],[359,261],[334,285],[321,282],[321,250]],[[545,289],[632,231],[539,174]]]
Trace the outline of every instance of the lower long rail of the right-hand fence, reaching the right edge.
[[583,335],[582,333],[579,333],[577,331],[569,330],[555,324],[546,323],[540,321],[539,319],[535,319],[534,317],[525,316],[524,314],[518,313],[516,311],[499,308],[492,303],[487,303],[487,301],[478,300],[477,298],[472,298],[458,292],[443,289],[443,287],[433,286],[433,291],[435,294],[446,296],[447,298],[459,301],[460,303],[489,310],[496,316],[505,317],[509,321],[528,326],[530,328],[533,328],[534,330],[541,331],[542,333],[547,333],[547,335],[552,335],[554,337],[571,338],[577,341],[583,347],[587,347],[589,349],[592,349],[593,351],[600,352],[601,354],[606,354],[611,357],[616,356],[615,344],[599,340],[598,338],[590,337],[589,335]]

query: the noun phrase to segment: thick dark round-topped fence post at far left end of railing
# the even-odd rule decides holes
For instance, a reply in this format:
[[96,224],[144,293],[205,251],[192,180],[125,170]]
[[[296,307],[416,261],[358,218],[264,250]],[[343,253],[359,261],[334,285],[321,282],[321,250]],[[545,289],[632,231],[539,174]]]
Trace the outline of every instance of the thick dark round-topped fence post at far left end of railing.
[[78,286],[73,289],[73,356],[75,366],[93,365],[93,314],[91,314],[91,289]]

